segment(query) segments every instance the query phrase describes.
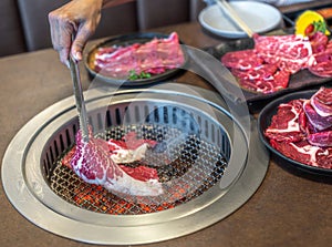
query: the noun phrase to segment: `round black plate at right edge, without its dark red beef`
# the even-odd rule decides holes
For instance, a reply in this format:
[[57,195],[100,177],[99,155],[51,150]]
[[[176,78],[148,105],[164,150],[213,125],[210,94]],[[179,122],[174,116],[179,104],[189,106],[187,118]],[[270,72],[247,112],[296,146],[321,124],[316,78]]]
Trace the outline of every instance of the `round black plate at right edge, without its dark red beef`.
[[282,96],[282,97],[279,97],[279,99],[272,101],[271,103],[269,103],[266,107],[263,107],[263,110],[259,114],[259,117],[258,117],[258,132],[259,132],[259,137],[263,142],[263,144],[273,154],[276,154],[277,156],[284,159],[287,162],[286,164],[290,164],[290,165],[295,166],[297,168],[300,168],[300,169],[305,171],[305,172],[332,176],[332,169],[310,166],[310,165],[297,162],[294,159],[291,159],[291,158],[284,156],[283,154],[281,154],[279,151],[274,150],[270,145],[269,140],[263,134],[264,130],[267,130],[268,126],[270,126],[271,119],[272,119],[273,115],[277,114],[278,106],[281,103],[287,103],[287,102],[290,102],[291,100],[295,100],[295,99],[310,99],[315,92],[317,92],[317,90],[295,92],[295,93],[291,93],[291,94]]

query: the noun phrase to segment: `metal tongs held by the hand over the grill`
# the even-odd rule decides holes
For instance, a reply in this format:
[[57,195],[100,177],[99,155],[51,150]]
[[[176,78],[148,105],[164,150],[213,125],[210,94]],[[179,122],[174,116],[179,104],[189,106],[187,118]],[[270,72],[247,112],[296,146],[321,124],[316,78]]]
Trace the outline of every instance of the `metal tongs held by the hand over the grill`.
[[79,121],[80,121],[80,127],[82,132],[82,138],[84,142],[89,142],[87,115],[86,115],[86,106],[83,96],[79,62],[74,58],[72,58],[72,55],[70,55],[70,70],[73,80],[74,96],[75,96],[76,109],[79,112]]

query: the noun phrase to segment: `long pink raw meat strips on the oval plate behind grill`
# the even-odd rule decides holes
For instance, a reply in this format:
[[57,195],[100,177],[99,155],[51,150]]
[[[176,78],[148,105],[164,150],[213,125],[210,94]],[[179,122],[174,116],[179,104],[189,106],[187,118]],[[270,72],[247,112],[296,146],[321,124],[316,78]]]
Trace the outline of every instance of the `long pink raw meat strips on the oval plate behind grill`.
[[94,69],[103,75],[127,79],[131,71],[160,74],[179,68],[185,56],[177,33],[167,39],[153,39],[146,43],[128,47],[100,48],[95,54]]

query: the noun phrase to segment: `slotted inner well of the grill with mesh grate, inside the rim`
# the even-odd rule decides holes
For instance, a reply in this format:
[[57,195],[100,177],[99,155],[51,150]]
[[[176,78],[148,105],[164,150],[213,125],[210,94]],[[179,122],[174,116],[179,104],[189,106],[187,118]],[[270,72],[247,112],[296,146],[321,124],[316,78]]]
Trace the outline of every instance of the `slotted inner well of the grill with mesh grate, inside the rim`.
[[[222,177],[230,157],[230,142],[225,130],[209,116],[191,109],[174,105],[116,104],[94,110],[89,116],[96,137],[121,140],[135,132],[138,138],[175,138],[185,133],[180,143],[170,147],[166,163],[159,155],[148,155],[145,165],[157,169],[165,193],[157,198],[127,200],[101,186],[91,185],[63,165],[75,142],[77,120],[60,130],[44,148],[42,166],[50,188],[77,207],[112,215],[138,215],[174,208],[197,198]],[[170,144],[172,145],[172,144]],[[126,164],[135,167],[139,163]]]

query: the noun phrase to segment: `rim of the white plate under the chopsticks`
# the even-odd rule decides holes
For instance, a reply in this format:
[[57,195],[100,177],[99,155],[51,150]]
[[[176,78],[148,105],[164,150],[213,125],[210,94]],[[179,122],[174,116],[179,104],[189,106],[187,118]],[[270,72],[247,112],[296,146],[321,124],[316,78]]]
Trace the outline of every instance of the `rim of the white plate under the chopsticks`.
[[[276,19],[276,22],[273,24],[270,24],[268,28],[258,30],[257,33],[263,33],[263,32],[273,30],[282,22],[282,16],[281,16],[280,11],[270,4],[267,4],[263,2],[256,2],[256,1],[232,1],[232,2],[230,2],[230,4],[231,6],[252,4],[255,7],[259,6],[259,7],[270,9],[271,11],[274,11],[278,14],[278,19]],[[208,11],[211,11],[217,8],[219,8],[217,4],[208,6],[205,9],[203,9],[200,11],[200,13],[198,14],[198,21],[206,30],[208,30],[219,37],[226,37],[226,38],[231,38],[231,39],[247,37],[246,32],[242,32],[242,31],[222,31],[220,29],[212,28],[211,25],[206,23],[206,21],[204,20],[204,17],[207,14]],[[220,17],[222,17],[222,16],[220,16]]]

